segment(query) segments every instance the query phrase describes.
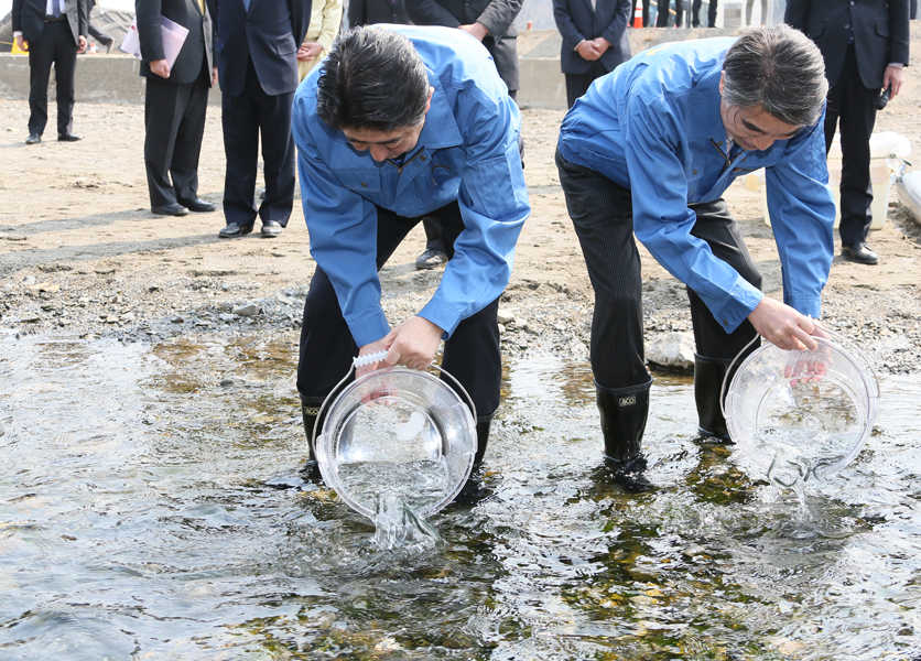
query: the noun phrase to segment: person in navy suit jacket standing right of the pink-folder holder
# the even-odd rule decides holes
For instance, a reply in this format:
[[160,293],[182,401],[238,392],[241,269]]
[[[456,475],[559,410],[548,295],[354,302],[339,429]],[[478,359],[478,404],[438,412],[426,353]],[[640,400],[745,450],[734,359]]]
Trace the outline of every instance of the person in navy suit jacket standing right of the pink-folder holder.
[[297,47],[311,0],[216,0],[217,68],[227,169],[218,236],[252,231],[256,170],[262,140],[266,196],[259,206],[262,236],[277,237],[294,206],[291,102],[297,88]]

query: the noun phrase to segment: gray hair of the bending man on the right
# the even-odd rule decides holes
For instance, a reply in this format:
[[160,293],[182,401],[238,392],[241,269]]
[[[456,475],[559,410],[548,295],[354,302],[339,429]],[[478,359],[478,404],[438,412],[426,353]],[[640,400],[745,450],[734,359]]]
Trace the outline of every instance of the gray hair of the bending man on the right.
[[747,30],[726,53],[723,98],[732,106],[760,106],[792,126],[811,126],[828,94],[819,47],[789,25]]

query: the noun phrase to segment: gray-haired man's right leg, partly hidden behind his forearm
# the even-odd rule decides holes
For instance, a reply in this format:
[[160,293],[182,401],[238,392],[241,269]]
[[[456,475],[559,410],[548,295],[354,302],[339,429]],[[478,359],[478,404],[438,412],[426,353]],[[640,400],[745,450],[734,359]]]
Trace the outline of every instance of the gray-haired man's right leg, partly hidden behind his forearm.
[[[695,237],[707,242],[714,257],[733,267],[747,282],[761,289],[761,274],[745,246],[738,225],[723,199],[692,205],[697,214]],[[694,399],[703,435],[729,441],[726,420],[723,418],[720,395],[723,380],[729,364],[757,335],[746,321],[733,333],[726,333],[703,300],[690,288],[691,321],[694,326]],[[757,348],[757,343],[749,350]]]

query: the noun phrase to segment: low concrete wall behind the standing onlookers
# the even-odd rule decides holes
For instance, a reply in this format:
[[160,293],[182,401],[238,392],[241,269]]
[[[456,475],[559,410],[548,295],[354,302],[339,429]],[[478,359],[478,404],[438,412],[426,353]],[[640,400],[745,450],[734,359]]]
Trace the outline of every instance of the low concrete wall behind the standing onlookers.
[[[685,39],[730,34],[724,30],[674,30],[646,28],[630,30],[633,53],[652,45]],[[555,30],[525,32],[519,37],[521,89],[519,102],[523,107],[565,108],[566,86],[560,73],[560,35]],[[77,102],[142,104],[144,80],[138,75],[140,63],[128,55],[77,56]],[[29,57],[0,53],[0,96],[6,99],[29,98]],[[54,96],[54,78],[48,99]],[[220,104],[220,93],[212,90],[212,105]]]

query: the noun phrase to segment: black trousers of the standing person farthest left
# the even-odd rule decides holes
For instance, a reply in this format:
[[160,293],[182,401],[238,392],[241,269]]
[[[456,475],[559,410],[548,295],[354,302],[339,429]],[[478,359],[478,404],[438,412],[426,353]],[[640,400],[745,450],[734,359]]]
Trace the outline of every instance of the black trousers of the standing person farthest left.
[[67,19],[45,23],[42,36],[29,42],[29,133],[41,136],[48,121],[48,77],[54,64],[57,134],[74,126],[74,73],[77,45]]

